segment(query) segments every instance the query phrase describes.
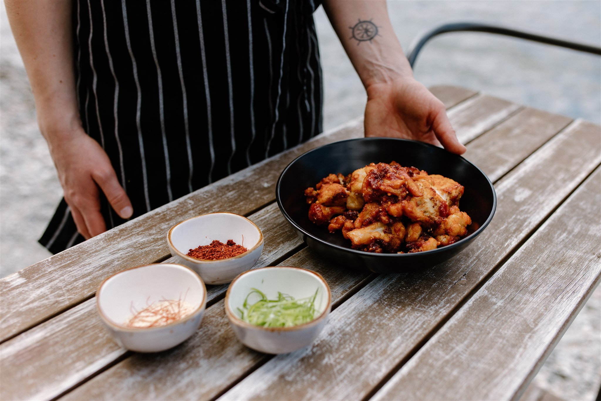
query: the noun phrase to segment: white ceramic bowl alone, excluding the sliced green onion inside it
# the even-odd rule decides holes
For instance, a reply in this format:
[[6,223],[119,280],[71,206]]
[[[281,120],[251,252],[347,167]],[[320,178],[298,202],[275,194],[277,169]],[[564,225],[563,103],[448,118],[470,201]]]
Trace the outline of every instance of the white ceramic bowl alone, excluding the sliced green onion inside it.
[[[294,299],[313,296],[316,317],[311,322],[293,327],[266,328],[251,325],[240,319],[237,308],[242,309],[246,296],[256,288],[267,299],[278,298],[278,292]],[[286,354],[313,343],[327,322],[331,310],[332,294],[322,275],[310,270],[292,267],[260,268],[240,274],[225,294],[225,314],[236,336],[247,347],[266,354]]]

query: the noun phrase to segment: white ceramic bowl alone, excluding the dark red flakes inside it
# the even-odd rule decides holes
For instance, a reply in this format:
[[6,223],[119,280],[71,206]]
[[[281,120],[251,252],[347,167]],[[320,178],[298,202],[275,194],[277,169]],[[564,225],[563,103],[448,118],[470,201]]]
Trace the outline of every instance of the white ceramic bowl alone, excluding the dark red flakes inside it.
[[[248,251],[219,260],[200,260],[187,255],[190,249],[209,245],[215,239],[223,243],[231,239]],[[167,245],[177,263],[194,269],[206,284],[225,284],[257,263],[263,252],[263,234],[245,216],[228,212],[208,213],[171,227],[167,233]]]

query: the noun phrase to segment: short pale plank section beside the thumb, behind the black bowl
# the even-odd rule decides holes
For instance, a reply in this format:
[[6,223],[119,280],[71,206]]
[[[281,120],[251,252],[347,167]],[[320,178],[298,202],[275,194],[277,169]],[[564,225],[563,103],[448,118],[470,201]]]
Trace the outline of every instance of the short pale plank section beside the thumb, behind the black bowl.
[[523,106],[507,100],[479,94],[447,112],[448,118],[462,143],[467,143]]

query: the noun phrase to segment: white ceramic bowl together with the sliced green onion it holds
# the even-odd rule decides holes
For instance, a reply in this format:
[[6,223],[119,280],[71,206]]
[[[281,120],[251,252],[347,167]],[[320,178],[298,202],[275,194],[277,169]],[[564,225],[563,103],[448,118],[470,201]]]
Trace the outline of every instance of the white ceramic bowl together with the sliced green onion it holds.
[[331,310],[328,283],[316,272],[267,267],[244,272],[225,295],[236,336],[254,350],[286,354],[311,344]]

